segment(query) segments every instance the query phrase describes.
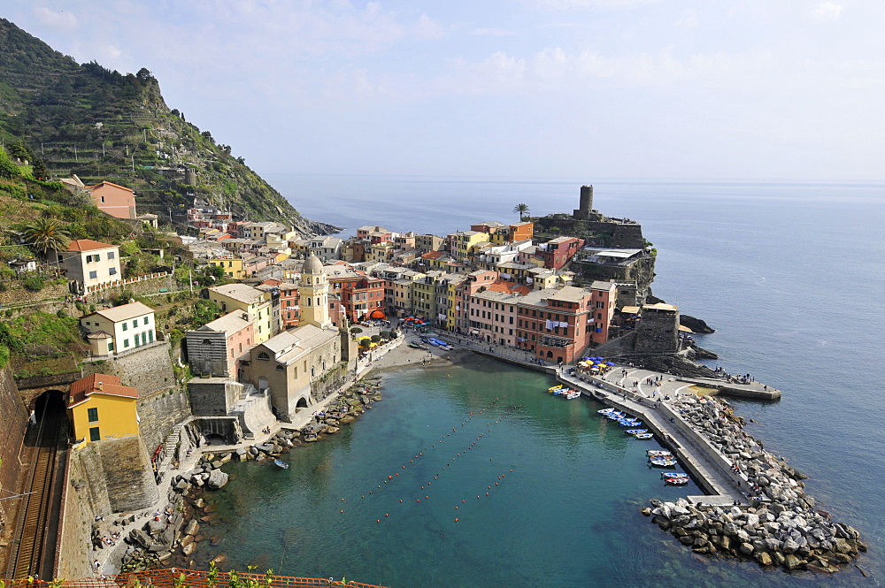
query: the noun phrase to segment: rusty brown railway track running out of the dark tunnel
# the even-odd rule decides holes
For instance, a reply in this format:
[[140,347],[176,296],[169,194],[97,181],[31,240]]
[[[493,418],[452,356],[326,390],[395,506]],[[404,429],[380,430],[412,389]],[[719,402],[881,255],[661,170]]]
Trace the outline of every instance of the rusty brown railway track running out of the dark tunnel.
[[[9,576],[14,579],[39,575],[52,575],[54,553],[46,553],[47,539],[58,533],[58,521],[50,518],[53,489],[58,470],[58,446],[65,439],[67,424],[64,409],[51,409],[50,399],[44,399],[39,429],[36,434],[35,454],[31,468],[30,484],[26,487],[24,509],[19,515],[19,531],[13,544]],[[53,549],[54,552],[54,549]]]

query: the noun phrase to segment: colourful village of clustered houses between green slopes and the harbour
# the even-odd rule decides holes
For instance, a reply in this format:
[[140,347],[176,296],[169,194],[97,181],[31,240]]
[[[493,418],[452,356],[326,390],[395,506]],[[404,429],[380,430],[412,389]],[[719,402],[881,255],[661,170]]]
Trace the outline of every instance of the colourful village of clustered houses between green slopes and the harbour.
[[[404,331],[446,332],[542,365],[574,363],[635,332],[653,277],[655,252],[641,227],[596,212],[592,187],[581,188],[572,214],[531,218],[520,204],[512,223],[478,221],[443,236],[365,225],[342,238],[245,221],[199,199],[186,225],[166,225],[139,214],[132,188],[76,175],[56,181],[142,243],[134,250],[126,238],[70,239],[62,230],[41,249],[21,231],[17,250],[33,256],[6,260],[7,317],[25,330],[73,332],[60,364],[12,349],[3,386],[17,398],[4,409],[15,423],[10,439],[39,445],[44,426],[63,431],[58,488],[73,489],[59,523],[61,571],[92,557],[74,538],[92,535],[91,549],[103,548],[93,520],[155,504],[166,473],[200,447],[304,421]],[[144,247],[145,235],[154,247]],[[153,263],[140,264],[143,255]],[[21,284],[47,274],[54,289]],[[648,307],[650,317],[660,306]],[[674,323],[667,332],[664,347],[675,350]],[[13,449],[4,445],[6,463]],[[4,469],[4,490],[27,492],[15,470]],[[0,511],[6,537],[17,506]],[[171,554],[172,541],[162,545]]]

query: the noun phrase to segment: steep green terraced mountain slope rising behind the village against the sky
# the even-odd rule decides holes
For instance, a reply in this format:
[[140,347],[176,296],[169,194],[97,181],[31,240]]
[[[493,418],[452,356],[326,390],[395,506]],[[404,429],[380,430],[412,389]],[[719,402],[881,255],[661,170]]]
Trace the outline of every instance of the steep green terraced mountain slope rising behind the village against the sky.
[[[140,214],[183,220],[195,198],[237,218],[277,220],[305,234],[335,227],[301,217],[209,131],[169,109],[144,68],[77,64],[0,19],[0,139],[35,177],[107,179],[132,187]],[[186,172],[190,170],[189,172]]]

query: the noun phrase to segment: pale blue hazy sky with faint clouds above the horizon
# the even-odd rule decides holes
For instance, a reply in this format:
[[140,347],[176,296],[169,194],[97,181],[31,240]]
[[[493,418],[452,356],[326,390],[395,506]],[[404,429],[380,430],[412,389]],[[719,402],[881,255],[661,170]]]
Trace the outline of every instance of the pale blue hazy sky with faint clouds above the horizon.
[[259,173],[879,180],[881,0],[4,0]]

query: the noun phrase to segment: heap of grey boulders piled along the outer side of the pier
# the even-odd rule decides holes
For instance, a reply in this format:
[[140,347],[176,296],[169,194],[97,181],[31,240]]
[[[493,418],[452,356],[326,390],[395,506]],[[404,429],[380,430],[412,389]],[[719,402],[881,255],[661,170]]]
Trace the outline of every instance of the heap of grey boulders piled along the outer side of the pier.
[[815,510],[814,500],[804,493],[804,474],[745,433],[726,401],[690,396],[672,406],[733,463],[751,506],[700,508],[684,499],[651,500],[643,514],[652,523],[696,553],[729,554],[788,570],[835,572],[839,564],[866,552],[856,529]]

